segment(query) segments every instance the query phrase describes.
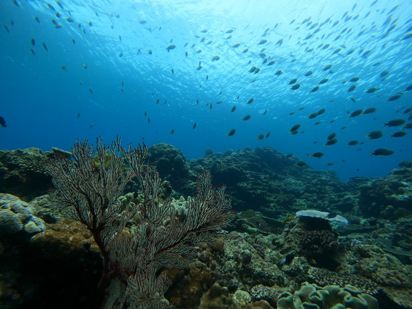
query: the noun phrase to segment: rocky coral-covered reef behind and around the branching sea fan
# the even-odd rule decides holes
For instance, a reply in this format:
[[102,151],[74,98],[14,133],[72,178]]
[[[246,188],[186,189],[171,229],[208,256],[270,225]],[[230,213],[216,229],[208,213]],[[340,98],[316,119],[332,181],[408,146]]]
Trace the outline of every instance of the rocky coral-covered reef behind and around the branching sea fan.
[[[44,195],[51,182],[43,164],[51,154],[0,151],[0,189],[10,193],[0,194],[1,308],[99,307],[97,243]],[[94,166],[112,160],[94,159]],[[176,222],[188,220],[193,198],[181,195],[192,194],[207,169],[215,184],[227,184],[238,211],[224,235],[185,255],[187,263],[158,269],[170,280],[165,298],[172,308],[303,308],[305,302],[309,308],[374,308],[375,298],[383,309],[412,303],[411,162],[384,178],[345,183],[269,147],[208,151],[188,160],[173,146],[157,144],[146,163],[161,170],[156,194],[174,197],[168,207]],[[145,201],[138,182],[121,194],[119,210]],[[139,222],[139,215],[124,222],[122,237],[131,239]]]

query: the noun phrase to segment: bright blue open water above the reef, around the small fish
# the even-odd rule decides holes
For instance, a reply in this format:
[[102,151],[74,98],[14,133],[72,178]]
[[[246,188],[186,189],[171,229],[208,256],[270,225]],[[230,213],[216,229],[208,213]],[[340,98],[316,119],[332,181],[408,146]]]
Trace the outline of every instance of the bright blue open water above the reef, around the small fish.
[[[109,142],[117,134],[125,145],[173,144],[187,158],[207,148],[271,146],[313,168],[334,169],[341,180],[386,175],[412,159],[412,131],[393,138],[400,128],[382,125],[409,122],[403,114],[412,106],[412,92],[404,92],[412,84],[412,38],[403,39],[412,27],[407,0],[61,0],[63,9],[50,0],[55,10],[45,1],[14,2],[0,4],[0,116],[7,124],[0,127],[0,148],[69,149],[76,139],[103,136]],[[329,64],[332,72],[322,70]],[[249,73],[253,66],[260,72]],[[275,75],[278,70],[283,74]],[[313,75],[305,77],[308,70]],[[385,70],[389,74],[380,77]],[[360,79],[349,82],[352,77]],[[288,85],[293,78],[298,90]],[[324,78],[329,81],[311,93]],[[350,85],[357,88],[347,92]],[[371,87],[379,90],[365,93]],[[386,101],[398,92],[400,99]],[[369,107],[377,112],[347,117]],[[308,119],[319,109],[325,114]],[[251,119],[242,121],[246,114]],[[301,124],[296,135],[288,133],[294,124]],[[227,136],[231,129],[236,133]],[[366,139],[374,130],[384,136]],[[256,138],[269,131],[268,139]],[[332,132],[338,142],[323,146]],[[364,144],[346,145],[354,139]],[[395,153],[370,156],[376,148]],[[318,151],[325,156],[308,156]]]

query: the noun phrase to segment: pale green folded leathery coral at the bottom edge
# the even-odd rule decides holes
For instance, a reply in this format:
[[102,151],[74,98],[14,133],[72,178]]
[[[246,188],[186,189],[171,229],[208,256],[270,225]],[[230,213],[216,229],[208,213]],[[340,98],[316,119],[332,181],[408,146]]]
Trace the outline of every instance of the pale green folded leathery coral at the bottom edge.
[[377,309],[378,300],[364,294],[354,286],[325,286],[305,282],[293,295],[282,293],[279,296],[278,309]]

